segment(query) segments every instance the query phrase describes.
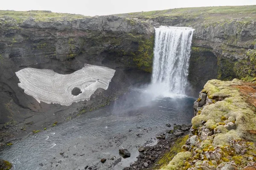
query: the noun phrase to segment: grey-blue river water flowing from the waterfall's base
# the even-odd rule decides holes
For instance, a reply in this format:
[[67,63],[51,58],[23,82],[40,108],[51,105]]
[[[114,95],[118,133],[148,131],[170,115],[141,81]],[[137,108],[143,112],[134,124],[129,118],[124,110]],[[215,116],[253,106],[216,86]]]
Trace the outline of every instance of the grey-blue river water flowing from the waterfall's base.
[[[145,142],[156,144],[155,136],[174,123],[189,124],[194,101],[131,90],[109,106],[13,142],[0,151],[0,158],[12,162],[16,170],[84,170],[86,166],[120,170],[136,161]],[[122,148],[131,157],[120,161]],[[104,164],[102,158],[107,159]]]

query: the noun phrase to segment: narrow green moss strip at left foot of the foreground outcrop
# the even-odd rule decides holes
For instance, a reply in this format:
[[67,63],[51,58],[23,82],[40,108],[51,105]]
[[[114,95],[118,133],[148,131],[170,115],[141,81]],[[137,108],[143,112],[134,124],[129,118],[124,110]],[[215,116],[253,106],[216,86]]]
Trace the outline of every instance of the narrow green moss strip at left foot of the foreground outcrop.
[[[171,149],[168,153],[165,153],[161,159],[159,159],[156,164],[160,164],[161,167],[169,164],[169,162],[174,158],[174,156],[182,150],[182,146],[186,144],[186,140],[189,138],[188,135],[178,138],[175,143],[171,146]],[[155,168],[160,168],[155,166]]]

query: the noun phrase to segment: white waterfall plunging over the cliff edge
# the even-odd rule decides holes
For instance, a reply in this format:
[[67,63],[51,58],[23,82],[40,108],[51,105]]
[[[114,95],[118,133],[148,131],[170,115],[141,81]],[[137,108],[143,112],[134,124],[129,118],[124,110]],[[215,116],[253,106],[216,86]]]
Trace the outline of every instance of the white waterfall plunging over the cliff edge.
[[185,94],[194,29],[155,28],[152,85],[167,94]]

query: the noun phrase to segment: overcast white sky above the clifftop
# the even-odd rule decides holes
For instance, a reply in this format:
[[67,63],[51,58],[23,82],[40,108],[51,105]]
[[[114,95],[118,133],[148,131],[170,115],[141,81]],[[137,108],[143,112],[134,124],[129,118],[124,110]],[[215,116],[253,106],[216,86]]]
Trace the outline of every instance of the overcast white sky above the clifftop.
[[196,6],[256,5],[256,0],[1,0],[1,10],[49,10],[83,15],[107,15]]

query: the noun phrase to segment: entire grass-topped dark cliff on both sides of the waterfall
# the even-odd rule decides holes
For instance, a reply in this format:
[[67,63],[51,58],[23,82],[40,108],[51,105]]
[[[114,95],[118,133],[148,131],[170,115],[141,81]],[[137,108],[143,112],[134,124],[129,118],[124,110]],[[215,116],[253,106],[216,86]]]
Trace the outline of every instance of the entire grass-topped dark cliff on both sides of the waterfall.
[[[70,115],[108,104],[131,84],[150,81],[154,26],[195,28],[188,77],[194,94],[209,79],[254,80],[255,8],[180,8],[100,17],[0,11],[1,138],[10,136],[10,126],[19,127],[17,130],[24,126],[21,129],[32,131],[41,128],[46,117],[64,121]],[[109,89],[96,91],[88,102],[74,103],[72,107],[39,104],[17,86],[15,72],[22,68],[70,74],[84,63],[116,70]],[[41,124],[27,127],[31,121]]]

